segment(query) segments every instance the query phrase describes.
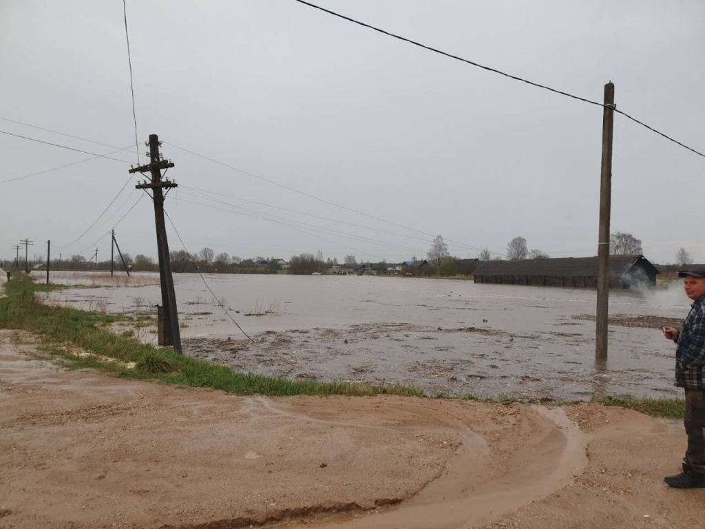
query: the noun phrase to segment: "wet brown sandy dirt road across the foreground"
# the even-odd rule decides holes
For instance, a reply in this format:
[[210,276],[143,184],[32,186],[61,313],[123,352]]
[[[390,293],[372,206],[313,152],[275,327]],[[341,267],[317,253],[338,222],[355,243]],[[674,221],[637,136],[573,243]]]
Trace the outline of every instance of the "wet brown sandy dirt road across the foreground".
[[[682,427],[618,408],[237,397],[0,331],[0,527],[694,528]],[[487,525],[491,524],[491,525]]]

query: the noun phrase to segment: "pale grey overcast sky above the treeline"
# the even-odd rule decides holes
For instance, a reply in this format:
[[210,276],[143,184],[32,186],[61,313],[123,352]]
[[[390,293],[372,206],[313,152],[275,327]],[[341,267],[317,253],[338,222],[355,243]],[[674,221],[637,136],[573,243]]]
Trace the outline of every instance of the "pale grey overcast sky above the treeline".
[[[705,150],[703,1],[314,3],[588,99],[612,80],[618,109]],[[440,233],[459,257],[503,253],[515,236],[552,257],[596,255],[600,107],[293,0],[128,0],[127,12],[140,160],[157,133],[180,184],[166,208],[191,252],[398,261]],[[97,154],[135,143],[121,0],[0,0],[0,77],[0,130]],[[22,238],[30,256],[47,239],[53,255],[109,255],[104,234],[144,195],[133,178],[75,241],[137,154],[109,156],[124,162],[0,183],[0,256]],[[0,134],[0,181],[87,158]],[[704,158],[616,115],[612,231],[642,239],[654,262],[680,247],[705,262],[704,173]],[[146,196],[116,234],[123,251],[156,256]]]

